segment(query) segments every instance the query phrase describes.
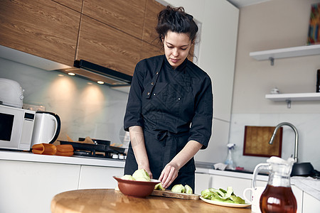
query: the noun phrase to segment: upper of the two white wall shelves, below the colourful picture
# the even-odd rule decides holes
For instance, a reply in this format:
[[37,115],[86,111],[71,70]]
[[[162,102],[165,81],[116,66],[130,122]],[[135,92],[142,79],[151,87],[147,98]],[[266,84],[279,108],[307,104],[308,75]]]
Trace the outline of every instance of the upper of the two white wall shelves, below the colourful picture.
[[306,55],[320,55],[320,45],[305,45],[294,48],[282,48],[275,50],[264,50],[258,52],[251,52],[250,57],[255,60],[270,60],[273,65],[274,59],[278,58],[292,58]]

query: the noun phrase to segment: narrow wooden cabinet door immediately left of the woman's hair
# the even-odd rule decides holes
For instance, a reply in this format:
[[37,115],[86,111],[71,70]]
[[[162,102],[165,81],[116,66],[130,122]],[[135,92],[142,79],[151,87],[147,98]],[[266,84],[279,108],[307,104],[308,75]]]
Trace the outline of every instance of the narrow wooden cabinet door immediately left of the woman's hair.
[[155,0],[146,0],[146,14],[144,16],[144,31],[142,40],[152,45],[159,46],[158,33],[156,33],[156,24],[158,23],[158,13],[166,8]]

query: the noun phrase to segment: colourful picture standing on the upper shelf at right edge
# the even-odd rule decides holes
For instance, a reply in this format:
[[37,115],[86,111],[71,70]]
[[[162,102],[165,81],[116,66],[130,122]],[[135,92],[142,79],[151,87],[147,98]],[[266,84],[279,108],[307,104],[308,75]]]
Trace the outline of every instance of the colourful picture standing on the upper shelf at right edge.
[[320,3],[311,4],[307,44],[320,44]]

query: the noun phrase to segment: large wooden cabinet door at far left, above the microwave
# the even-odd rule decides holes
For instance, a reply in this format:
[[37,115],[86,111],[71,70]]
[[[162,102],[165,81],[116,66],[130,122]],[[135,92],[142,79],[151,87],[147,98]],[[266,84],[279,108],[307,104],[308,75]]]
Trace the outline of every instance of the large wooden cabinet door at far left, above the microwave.
[[0,45],[73,65],[80,13],[50,0],[1,1]]

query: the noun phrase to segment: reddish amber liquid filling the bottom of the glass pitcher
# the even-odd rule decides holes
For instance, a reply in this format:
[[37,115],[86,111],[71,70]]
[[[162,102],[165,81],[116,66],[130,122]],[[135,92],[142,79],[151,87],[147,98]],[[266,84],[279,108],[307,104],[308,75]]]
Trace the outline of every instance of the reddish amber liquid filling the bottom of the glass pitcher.
[[297,200],[291,187],[267,185],[260,197],[260,209],[262,213],[296,213]]

